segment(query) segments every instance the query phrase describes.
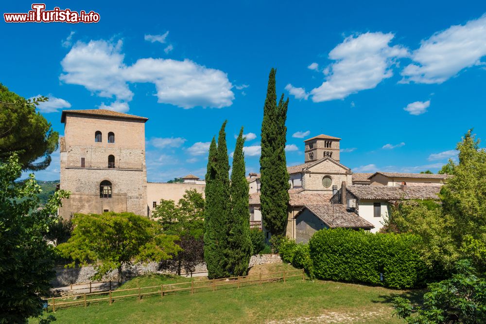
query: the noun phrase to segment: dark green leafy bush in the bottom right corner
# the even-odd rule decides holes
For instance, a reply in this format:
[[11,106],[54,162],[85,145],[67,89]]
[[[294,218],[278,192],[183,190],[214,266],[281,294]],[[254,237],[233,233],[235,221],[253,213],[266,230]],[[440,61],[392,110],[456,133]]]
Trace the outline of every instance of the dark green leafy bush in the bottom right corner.
[[429,285],[416,316],[411,316],[410,301],[401,297],[394,299],[394,315],[409,324],[486,323],[486,280],[475,271],[469,260],[458,261],[450,279]]

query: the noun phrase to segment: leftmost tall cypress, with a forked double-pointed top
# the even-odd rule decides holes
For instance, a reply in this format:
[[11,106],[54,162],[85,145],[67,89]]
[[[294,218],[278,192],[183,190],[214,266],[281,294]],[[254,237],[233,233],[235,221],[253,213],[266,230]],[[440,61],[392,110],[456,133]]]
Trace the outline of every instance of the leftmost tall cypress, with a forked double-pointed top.
[[229,275],[227,271],[227,234],[231,201],[225,127],[226,121],[221,126],[217,147],[214,139],[209,146],[206,174],[204,258],[208,266],[208,277],[211,279]]

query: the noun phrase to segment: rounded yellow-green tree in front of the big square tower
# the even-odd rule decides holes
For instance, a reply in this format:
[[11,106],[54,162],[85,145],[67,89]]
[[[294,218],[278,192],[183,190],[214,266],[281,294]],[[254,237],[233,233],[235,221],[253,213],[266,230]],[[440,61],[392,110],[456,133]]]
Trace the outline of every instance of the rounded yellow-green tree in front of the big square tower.
[[[133,213],[75,214],[74,231],[68,242],[57,249],[82,265],[98,261],[94,278],[118,270],[132,262],[161,261],[171,258],[181,249],[175,244],[176,235],[162,234],[160,225]],[[75,262],[69,264],[75,266]]]

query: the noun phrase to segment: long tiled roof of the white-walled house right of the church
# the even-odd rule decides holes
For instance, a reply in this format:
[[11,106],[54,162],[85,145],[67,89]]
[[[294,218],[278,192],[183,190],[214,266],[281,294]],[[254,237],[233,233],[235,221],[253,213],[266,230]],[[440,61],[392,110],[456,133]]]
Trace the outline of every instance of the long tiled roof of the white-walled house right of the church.
[[373,186],[351,185],[347,191],[360,199],[399,200],[399,199],[438,199],[440,185],[427,186]]

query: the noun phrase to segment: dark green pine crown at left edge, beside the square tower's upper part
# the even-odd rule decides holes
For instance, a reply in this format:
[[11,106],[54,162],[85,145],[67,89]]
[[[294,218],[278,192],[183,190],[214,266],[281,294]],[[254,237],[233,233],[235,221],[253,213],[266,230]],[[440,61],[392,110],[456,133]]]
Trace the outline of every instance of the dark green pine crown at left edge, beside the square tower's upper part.
[[[17,153],[24,170],[42,170],[51,163],[59,134],[40,113],[35,112],[46,97],[26,100],[0,84],[0,160]],[[41,162],[35,162],[38,158]]]

